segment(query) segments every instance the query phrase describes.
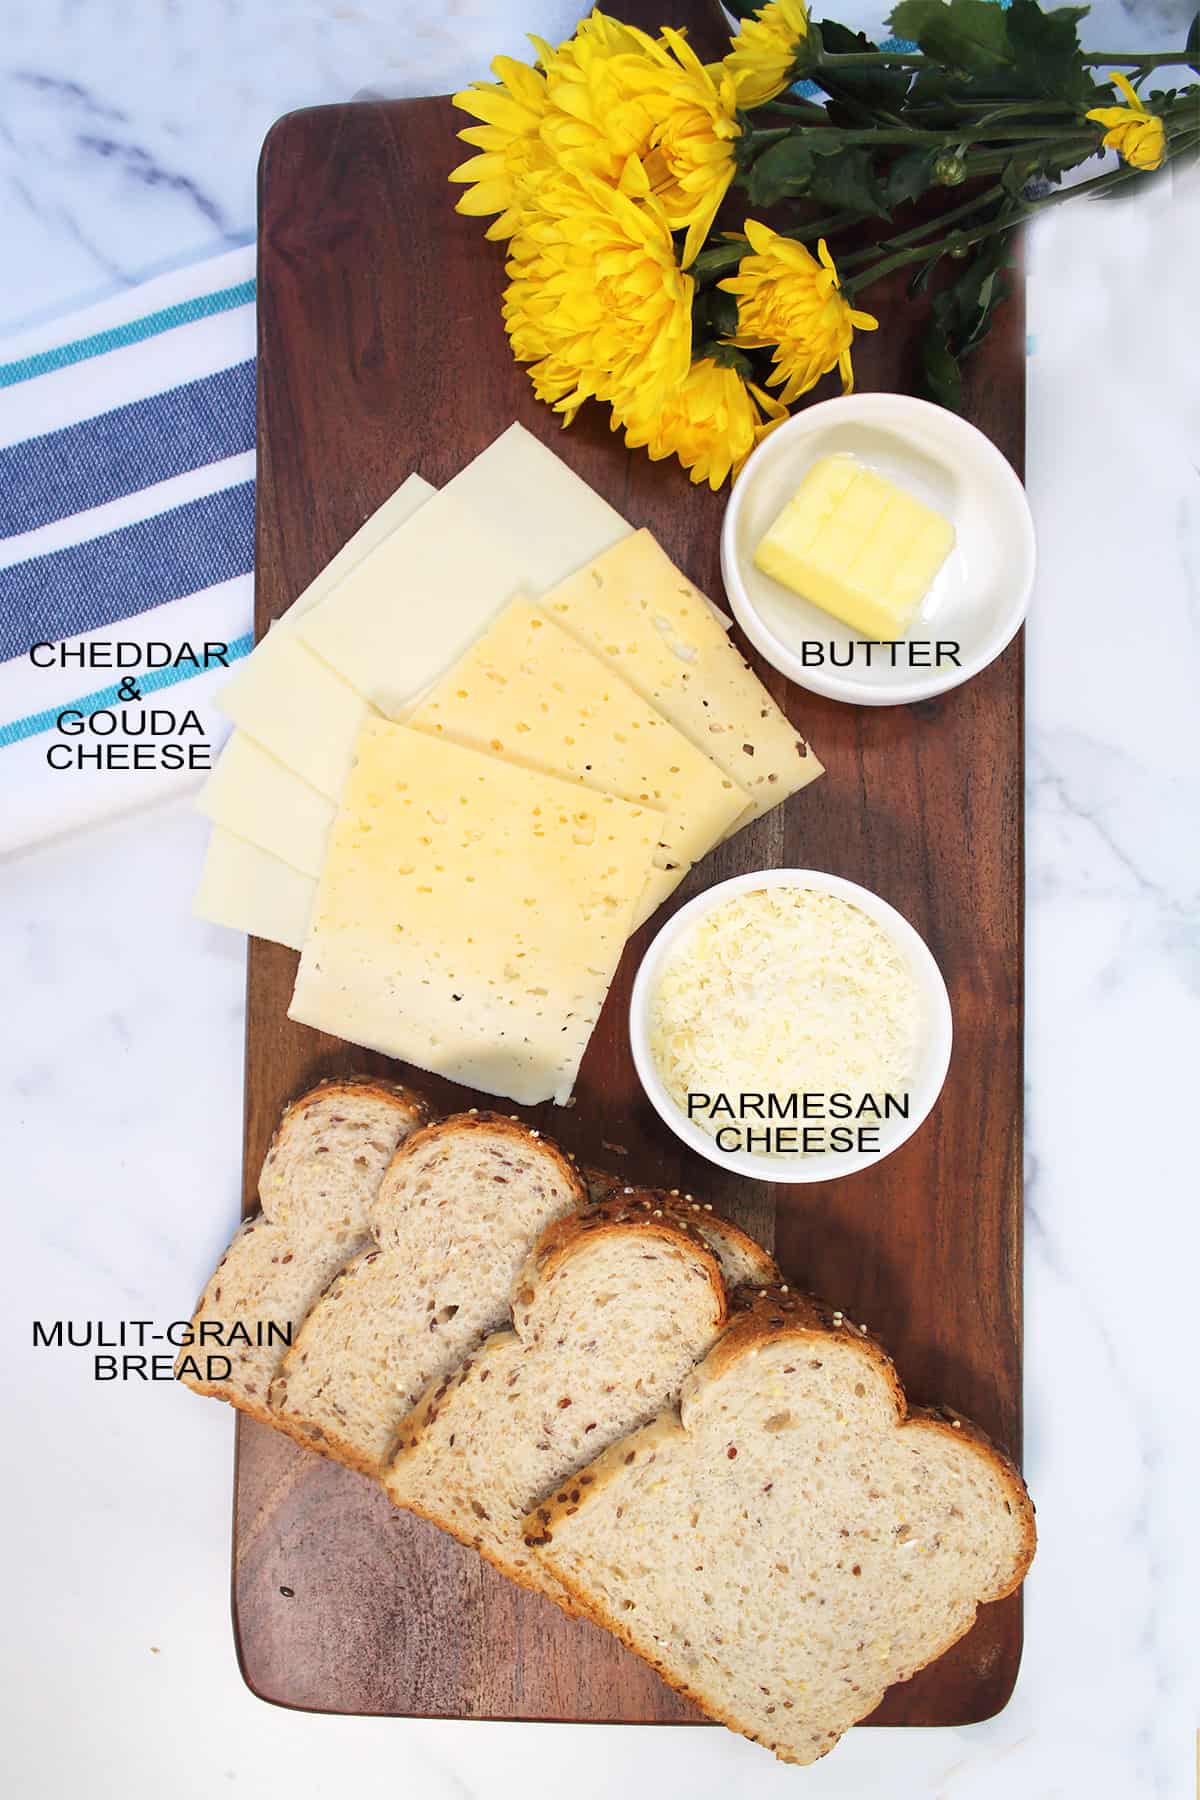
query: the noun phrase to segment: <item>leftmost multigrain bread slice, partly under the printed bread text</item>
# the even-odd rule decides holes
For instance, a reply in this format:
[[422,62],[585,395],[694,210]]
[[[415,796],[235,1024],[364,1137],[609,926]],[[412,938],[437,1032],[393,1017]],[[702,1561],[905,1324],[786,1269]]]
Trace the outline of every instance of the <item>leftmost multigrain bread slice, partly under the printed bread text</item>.
[[[277,1422],[266,1391],[288,1348],[281,1337],[295,1336],[338,1269],[369,1242],[367,1204],[396,1147],[428,1116],[419,1094],[371,1076],[320,1082],[284,1109],[259,1175],[263,1210],[234,1233],[193,1318],[196,1343],[203,1327],[214,1334],[219,1327],[210,1348],[232,1370],[223,1381],[201,1381],[180,1366],[189,1388]],[[230,1327],[245,1327],[250,1343],[228,1343]]]

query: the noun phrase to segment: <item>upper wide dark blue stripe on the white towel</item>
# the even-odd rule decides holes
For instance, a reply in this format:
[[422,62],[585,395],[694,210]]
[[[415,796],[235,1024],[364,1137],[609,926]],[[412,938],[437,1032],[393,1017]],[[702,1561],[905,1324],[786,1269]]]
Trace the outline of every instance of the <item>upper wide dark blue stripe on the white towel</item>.
[[0,450],[0,536],[254,450],[254,358]]

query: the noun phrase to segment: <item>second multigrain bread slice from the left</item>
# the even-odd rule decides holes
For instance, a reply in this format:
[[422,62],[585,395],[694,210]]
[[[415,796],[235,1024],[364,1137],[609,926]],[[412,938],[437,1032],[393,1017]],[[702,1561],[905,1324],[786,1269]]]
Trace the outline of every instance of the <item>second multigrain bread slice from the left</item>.
[[416,1132],[369,1210],[374,1244],[313,1307],[272,1384],[279,1426],[381,1476],[401,1420],[509,1316],[538,1233],[587,1202],[563,1152],[495,1112]]

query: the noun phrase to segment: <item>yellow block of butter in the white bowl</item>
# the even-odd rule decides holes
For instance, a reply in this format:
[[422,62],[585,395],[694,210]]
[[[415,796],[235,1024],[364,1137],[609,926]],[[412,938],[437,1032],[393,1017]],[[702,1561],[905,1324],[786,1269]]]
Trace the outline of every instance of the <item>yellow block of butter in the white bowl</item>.
[[763,574],[865,637],[903,637],[954,549],[954,526],[853,455],[828,455],[754,553]]

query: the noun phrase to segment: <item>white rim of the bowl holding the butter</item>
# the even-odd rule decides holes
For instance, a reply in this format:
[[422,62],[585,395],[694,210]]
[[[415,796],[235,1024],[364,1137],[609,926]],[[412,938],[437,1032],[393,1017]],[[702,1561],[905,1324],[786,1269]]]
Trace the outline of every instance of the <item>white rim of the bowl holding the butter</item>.
[[[964,432],[979,441],[979,450],[984,459],[995,466],[999,484],[1006,488],[1013,499],[1013,518],[1018,522],[1020,529],[1025,580],[1013,590],[1011,603],[1002,610],[995,630],[988,634],[982,648],[977,650],[973,657],[968,657],[961,668],[930,670],[928,673],[912,677],[910,680],[889,682],[885,688],[856,680],[853,675],[842,675],[840,671],[828,673],[826,670],[804,668],[799,657],[772,632],[747,592],[738,567],[734,538],[745,495],[750,491],[754,470],[777,455],[779,445],[786,439],[806,437],[815,428],[820,428],[831,414],[847,418],[849,412],[896,412],[901,418],[912,412],[937,414],[939,423],[948,430]],[[750,452],[738,473],[738,479],[734,481],[729,506],[725,508],[725,518],[721,522],[721,578],[725,581],[725,592],[730,607],[734,608],[738,625],[747,634],[754,648],[766,657],[772,668],[777,668],[781,675],[786,675],[788,680],[793,680],[797,686],[808,688],[810,693],[820,693],[828,700],[847,700],[855,706],[910,706],[916,700],[932,700],[941,693],[950,693],[954,688],[961,688],[963,682],[981,675],[1007,650],[1024,625],[1025,614],[1029,612],[1029,596],[1033,594],[1033,583],[1036,578],[1036,563],[1038,545],[1033,513],[1029,509],[1029,497],[1016,470],[1007,461],[1004,452],[999,450],[977,425],[972,425],[970,419],[964,419],[957,412],[948,412],[945,407],[934,405],[932,400],[918,400],[914,394],[837,394],[831,400],[817,401],[813,407],[804,407],[802,412],[795,412],[783,425],[775,427],[774,432],[768,432],[768,436],[763,437],[763,441]]]

